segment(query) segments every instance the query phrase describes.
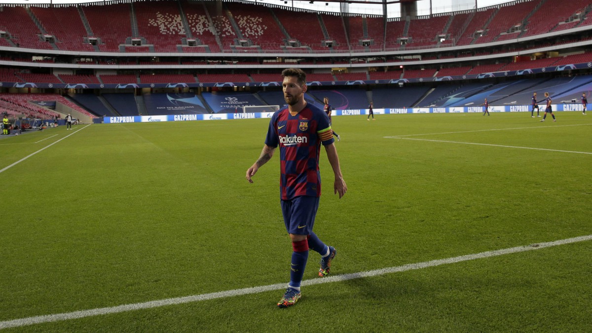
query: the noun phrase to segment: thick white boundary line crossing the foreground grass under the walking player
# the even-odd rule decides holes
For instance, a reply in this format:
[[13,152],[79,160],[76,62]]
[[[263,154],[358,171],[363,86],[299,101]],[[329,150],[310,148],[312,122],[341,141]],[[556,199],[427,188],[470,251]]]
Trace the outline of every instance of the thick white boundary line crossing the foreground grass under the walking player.
[[[530,244],[530,245],[525,245],[525,246],[516,246],[514,248],[499,249],[499,250],[494,250],[494,251],[481,252],[481,253],[477,253],[477,254],[461,255],[459,257],[453,257],[453,258],[447,258],[447,259],[417,262],[415,264],[407,264],[407,265],[402,265],[402,266],[388,267],[388,268],[382,268],[382,269],[373,270],[373,271],[343,274],[343,275],[329,276],[329,277],[324,277],[324,278],[315,278],[313,280],[303,281],[302,285],[303,286],[312,286],[314,284],[331,283],[331,282],[353,280],[356,278],[381,276],[384,274],[398,273],[398,272],[404,272],[404,271],[410,271],[410,270],[419,270],[421,268],[435,267],[435,266],[445,265],[445,264],[453,264],[455,262],[462,262],[462,261],[475,260],[475,259],[481,259],[481,258],[497,257],[498,255],[512,254],[512,253],[517,253],[517,252],[525,252],[525,251],[530,251],[530,250],[534,250],[534,249],[542,249],[542,248],[548,248],[551,246],[565,245],[565,244],[584,242],[584,241],[590,241],[590,240],[592,240],[592,235],[567,238],[567,239],[561,239],[559,241]],[[200,294],[200,295],[185,296],[185,297],[176,297],[176,298],[169,298],[169,299],[162,299],[162,300],[153,300],[153,301],[144,302],[144,303],[126,304],[126,305],[120,305],[120,306],[113,306],[111,308],[98,308],[98,309],[92,309],[92,310],[81,310],[81,311],[75,311],[75,312],[58,313],[56,315],[34,316],[34,317],[28,317],[28,318],[22,318],[22,319],[15,319],[15,320],[11,320],[11,321],[2,321],[2,322],[0,322],[0,329],[41,324],[44,322],[66,321],[66,320],[70,320],[70,319],[78,319],[78,318],[85,318],[85,317],[98,316],[98,315],[107,315],[110,313],[120,313],[120,312],[127,312],[127,311],[132,311],[132,310],[139,310],[139,309],[158,308],[160,306],[167,306],[167,305],[178,305],[178,304],[190,303],[190,302],[200,302],[202,300],[219,299],[219,298],[223,298],[223,297],[235,297],[235,296],[242,296],[242,295],[247,295],[247,294],[256,294],[256,293],[262,293],[262,292],[269,292],[271,290],[285,289],[286,286],[287,286],[286,283],[278,283],[278,284],[270,284],[268,286],[250,287],[250,288],[244,288],[244,289],[233,289],[233,290],[226,290],[223,292],[216,292],[216,293]]]

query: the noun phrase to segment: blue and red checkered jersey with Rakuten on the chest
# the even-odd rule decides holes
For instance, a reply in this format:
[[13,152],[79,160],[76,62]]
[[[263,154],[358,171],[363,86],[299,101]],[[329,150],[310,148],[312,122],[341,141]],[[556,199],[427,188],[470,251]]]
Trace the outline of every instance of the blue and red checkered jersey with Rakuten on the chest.
[[321,173],[318,169],[321,143],[330,145],[333,142],[329,117],[314,105],[307,104],[297,114],[291,114],[287,106],[274,113],[269,120],[265,144],[279,146],[282,200],[321,196]]

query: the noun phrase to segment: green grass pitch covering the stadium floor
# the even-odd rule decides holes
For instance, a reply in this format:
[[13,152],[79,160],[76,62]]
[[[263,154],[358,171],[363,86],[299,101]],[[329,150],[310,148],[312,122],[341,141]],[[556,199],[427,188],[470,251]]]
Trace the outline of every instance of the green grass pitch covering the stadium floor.
[[[556,117],[333,117],[348,193],[333,194],[321,148],[315,225],[338,250],[332,273],[592,235],[592,116]],[[93,124],[1,139],[0,322],[287,283],[278,156],[244,178],[267,126]],[[583,241],[306,286],[283,310],[275,290],[7,331],[590,332],[590,258]]]

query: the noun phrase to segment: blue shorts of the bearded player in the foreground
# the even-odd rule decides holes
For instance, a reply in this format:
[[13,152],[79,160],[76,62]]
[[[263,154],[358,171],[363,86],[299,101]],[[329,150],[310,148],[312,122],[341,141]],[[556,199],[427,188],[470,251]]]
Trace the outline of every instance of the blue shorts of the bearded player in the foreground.
[[314,218],[317,216],[318,197],[300,196],[292,200],[281,200],[282,215],[288,233],[310,235]]

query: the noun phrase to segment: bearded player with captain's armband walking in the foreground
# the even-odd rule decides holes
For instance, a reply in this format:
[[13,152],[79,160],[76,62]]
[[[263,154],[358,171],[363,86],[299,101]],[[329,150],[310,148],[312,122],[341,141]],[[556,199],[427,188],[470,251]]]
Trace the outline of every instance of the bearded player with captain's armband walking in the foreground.
[[342,198],[348,190],[335,148],[329,117],[304,100],[307,91],[306,73],[298,68],[282,71],[284,100],[288,105],[274,113],[269,121],[265,145],[259,159],[247,169],[246,178],[252,177],[274,155],[279,146],[280,196],[284,224],[292,242],[290,281],[279,308],[294,305],[301,297],[300,284],[308,260],[308,249],[321,255],[318,275],[329,274],[331,261],[337,251],[324,244],[313,232],[321,195],[321,176],[318,169],[321,144],[333,169],[334,193]]

